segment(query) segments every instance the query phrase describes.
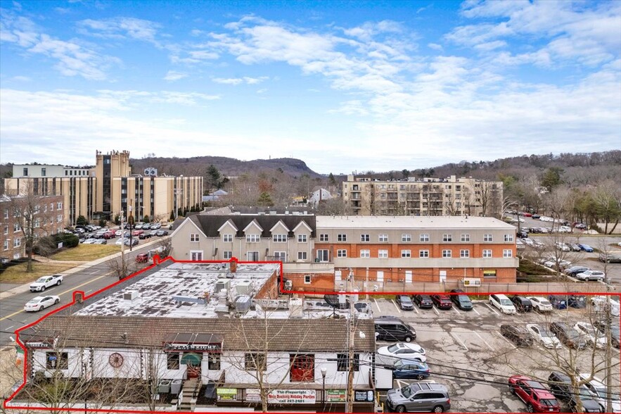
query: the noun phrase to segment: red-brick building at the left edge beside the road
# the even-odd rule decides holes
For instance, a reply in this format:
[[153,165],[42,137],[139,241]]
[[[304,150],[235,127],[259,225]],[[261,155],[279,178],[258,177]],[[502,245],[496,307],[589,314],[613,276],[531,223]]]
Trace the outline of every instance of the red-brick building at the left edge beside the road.
[[63,196],[0,196],[0,258],[24,257],[31,231],[34,238],[62,232],[63,203]]

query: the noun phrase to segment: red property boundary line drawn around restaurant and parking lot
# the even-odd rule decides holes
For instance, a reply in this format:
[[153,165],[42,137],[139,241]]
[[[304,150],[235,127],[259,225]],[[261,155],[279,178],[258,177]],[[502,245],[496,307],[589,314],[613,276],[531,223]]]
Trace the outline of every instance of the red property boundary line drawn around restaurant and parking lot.
[[[445,294],[445,295],[455,295],[452,294],[450,292],[444,292],[444,291],[437,291],[437,292],[419,292],[419,291],[411,291],[411,292],[404,292],[404,291],[395,291],[395,292],[376,292],[376,291],[333,291],[333,292],[314,292],[314,291],[295,291],[295,290],[291,290],[291,291],[287,291],[284,289],[284,280],[283,280],[283,263],[282,262],[276,262],[276,261],[260,261],[260,262],[243,262],[243,261],[238,261],[237,258],[231,258],[229,261],[179,261],[175,258],[172,258],[171,256],[168,256],[167,258],[164,258],[163,260],[160,259],[160,256],[155,255],[153,256],[153,264],[147,266],[146,268],[143,268],[141,270],[139,270],[138,272],[129,275],[127,277],[124,277],[121,280],[118,280],[117,282],[108,285],[107,287],[103,287],[101,289],[99,289],[98,291],[93,292],[92,294],[89,294],[88,296],[84,295],[84,291],[74,291],[72,294],[72,301],[70,303],[67,303],[64,306],[61,306],[58,309],[55,309],[54,311],[50,311],[48,313],[46,313],[45,315],[41,316],[41,318],[37,319],[36,321],[25,325],[23,327],[18,328],[17,330],[15,330],[15,342],[20,346],[20,348],[24,351],[24,372],[23,372],[23,383],[20,385],[20,387],[18,387],[18,389],[16,389],[13,394],[11,394],[11,396],[8,396],[8,398],[3,402],[2,406],[5,409],[12,409],[12,410],[46,410],[46,411],[67,411],[67,412],[76,412],[76,413],[87,413],[87,412],[91,412],[91,413],[140,413],[140,414],[145,414],[145,413],[149,413],[149,414],[161,414],[161,413],[179,413],[179,414],[192,414],[195,413],[195,411],[178,411],[178,410],[155,410],[155,411],[150,411],[150,410],[113,410],[113,409],[103,409],[103,408],[51,408],[51,407],[31,407],[31,406],[11,406],[9,403],[11,403],[11,400],[17,395],[19,394],[19,392],[25,387],[26,382],[27,382],[27,372],[28,372],[28,366],[27,366],[27,349],[25,344],[22,343],[22,341],[20,340],[20,332],[23,330],[26,330],[27,328],[30,328],[34,325],[37,325],[39,322],[41,322],[42,320],[44,320],[45,318],[47,318],[50,315],[53,315],[54,313],[58,313],[60,311],[63,311],[65,308],[69,308],[70,306],[75,305],[75,303],[78,302],[78,297],[81,297],[82,301],[86,301],[87,299],[90,299],[92,296],[95,296],[97,294],[100,294],[103,291],[106,291],[112,287],[117,286],[117,284],[121,284],[124,283],[126,280],[132,279],[132,277],[136,277],[138,275],[140,275],[142,272],[146,272],[147,270],[151,270],[153,268],[155,268],[155,266],[160,265],[160,263],[164,263],[165,261],[172,261],[174,263],[232,263],[233,261],[236,262],[237,264],[261,264],[261,263],[270,263],[270,264],[275,264],[278,263],[279,264],[279,293],[281,294],[302,294],[302,295],[307,295],[307,294],[314,294],[314,295],[325,295],[325,294],[357,294],[357,295],[361,295],[361,294],[368,294],[368,295],[386,295],[386,294],[405,294],[405,295],[409,295],[409,294]],[[464,294],[468,294],[468,292],[465,292]],[[547,292],[547,291],[527,291],[527,292],[505,292],[505,291],[490,291],[490,292],[485,292],[485,293],[481,293],[482,295],[486,295],[489,296],[491,294],[512,294],[512,295],[527,295],[527,296],[548,296],[549,294],[554,294],[554,295],[570,295],[570,294],[582,294],[585,296],[621,296],[621,294],[619,293],[612,293],[612,292],[600,292],[600,293],[593,293],[593,292],[589,292],[589,293],[583,293],[583,292],[579,292],[579,291],[571,291],[571,292]],[[620,316],[620,323],[621,323],[621,316]],[[621,367],[620,367],[620,373],[621,373]],[[278,413],[291,413],[291,414],[300,414],[301,411],[281,411],[278,410]],[[224,411],[224,410],[218,410],[217,413],[224,413],[224,414],[240,414],[240,413],[259,413],[259,411],[255,411],[255,410],[248,410],[248,411]],[[335,412],[332,412],[335,413]],[[358,412],[357,412],[358,413]],[[451,411],[451,413],[454,414],[487,414],[487,413],[492,413],[489,411],[480,411],[480,412],[475,412],[475,411],[469,411],[469,412],[459,412],[459,411]],[[506,414],[518,414],[521,412],[516,412],[516,413],[506,413]],[[335,413],[335,414],[345,414],[345,413]],[[364,414],[364,413],[363,413]],[[376,414],[376,413],[368,413],[368,414]]]

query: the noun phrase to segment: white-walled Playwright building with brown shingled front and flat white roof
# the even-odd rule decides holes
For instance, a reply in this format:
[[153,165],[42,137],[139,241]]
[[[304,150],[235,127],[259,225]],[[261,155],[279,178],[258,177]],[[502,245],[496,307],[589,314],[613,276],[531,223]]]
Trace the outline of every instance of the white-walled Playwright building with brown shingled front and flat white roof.
[[[330,404],[342,412],[351,351],[354,409],[371,412],[376,344],[370,315],[332,318],[301,298],[279,296],[280,268],[168,259],[47,316],[19,332],[29,382],[11,406],[44,406],[39,384],[81,382],[55,401],[63,406],[84,401],[86,394],[75,394],[89,389],[84,384],[127,380],[136,387],[129,392],[134,400],[124,388],[124,401],[89,394],[90,408],[139,406],[148,387],[146,394],[158,394],[157,409],[181,409],[188,400],[196,404],[193,390],[209,384],[210,404],[218,407],[266,402],[270,410],[323,410]],[[355,323],[352,343],[348,321]]]

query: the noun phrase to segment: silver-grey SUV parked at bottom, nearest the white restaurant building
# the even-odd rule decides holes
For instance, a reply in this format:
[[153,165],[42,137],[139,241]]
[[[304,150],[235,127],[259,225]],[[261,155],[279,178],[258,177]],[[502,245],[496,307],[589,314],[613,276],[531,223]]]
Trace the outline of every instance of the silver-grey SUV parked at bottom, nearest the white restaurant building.
[[386,394],[386,405],[397,413],[427,411],[442,413],[451,409],[447,387],[435,382],[416,382]]

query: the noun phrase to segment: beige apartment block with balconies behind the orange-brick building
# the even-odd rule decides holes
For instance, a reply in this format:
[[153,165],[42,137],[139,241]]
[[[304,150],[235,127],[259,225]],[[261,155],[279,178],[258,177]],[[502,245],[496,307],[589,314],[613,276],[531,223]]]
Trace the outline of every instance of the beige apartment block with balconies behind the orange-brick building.
[[502,182],[473,178],[374,180],[347,176],[343,201],[354,215],[487,215],[501,213]]

